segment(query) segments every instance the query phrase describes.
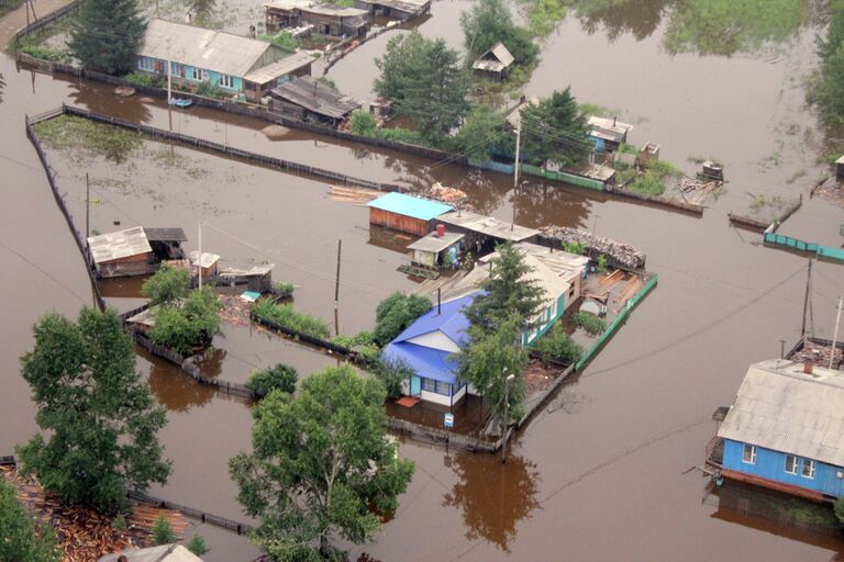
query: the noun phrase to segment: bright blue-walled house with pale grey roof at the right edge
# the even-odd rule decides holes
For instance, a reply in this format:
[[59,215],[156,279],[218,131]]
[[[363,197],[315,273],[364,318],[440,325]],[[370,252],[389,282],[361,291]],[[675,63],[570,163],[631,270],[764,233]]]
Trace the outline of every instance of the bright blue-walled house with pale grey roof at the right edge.
[[844,495],[844,371],[751,366],[718,431],[723,476],[817,501]]

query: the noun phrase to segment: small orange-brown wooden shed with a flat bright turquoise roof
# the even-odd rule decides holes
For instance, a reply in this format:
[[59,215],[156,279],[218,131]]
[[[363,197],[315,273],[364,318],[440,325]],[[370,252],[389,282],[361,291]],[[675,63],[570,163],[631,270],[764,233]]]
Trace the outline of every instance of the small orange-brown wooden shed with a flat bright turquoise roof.
[[398,192],[370,201],[367,206],[370,224],[417,236],[426,235],[433,229],[434,218],[452,211],[452,206],[445,203]]

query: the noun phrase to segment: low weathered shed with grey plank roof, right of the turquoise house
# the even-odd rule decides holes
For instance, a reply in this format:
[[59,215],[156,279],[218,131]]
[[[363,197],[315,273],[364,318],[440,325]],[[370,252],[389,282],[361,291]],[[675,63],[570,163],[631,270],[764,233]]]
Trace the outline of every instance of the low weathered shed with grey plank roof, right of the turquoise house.
[[310,76],[293,78],[271,90],[271,109],[276,113],[301,121],[318,121],[336,126],[360,106],[360,102],[343,95],[334,88]]

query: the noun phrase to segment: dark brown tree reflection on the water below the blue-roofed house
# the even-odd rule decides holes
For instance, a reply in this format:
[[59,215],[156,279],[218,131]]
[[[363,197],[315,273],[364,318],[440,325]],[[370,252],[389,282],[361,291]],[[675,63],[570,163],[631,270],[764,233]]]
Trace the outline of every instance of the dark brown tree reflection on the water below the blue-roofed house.
[[443,505],[463,510],[467,540],[482,538],[509,552],[515,525],[540,507],[536,465],[517,456],[501,464],[499,456],[466,452],[451,457],[451,463],[460,480]]

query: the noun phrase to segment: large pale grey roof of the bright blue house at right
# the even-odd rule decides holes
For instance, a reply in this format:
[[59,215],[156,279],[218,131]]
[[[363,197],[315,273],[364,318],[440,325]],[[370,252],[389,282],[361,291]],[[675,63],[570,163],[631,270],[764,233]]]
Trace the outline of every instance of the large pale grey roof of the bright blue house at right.
[[751,366],[719,437],[844,467],[844,372],[770,359]]

